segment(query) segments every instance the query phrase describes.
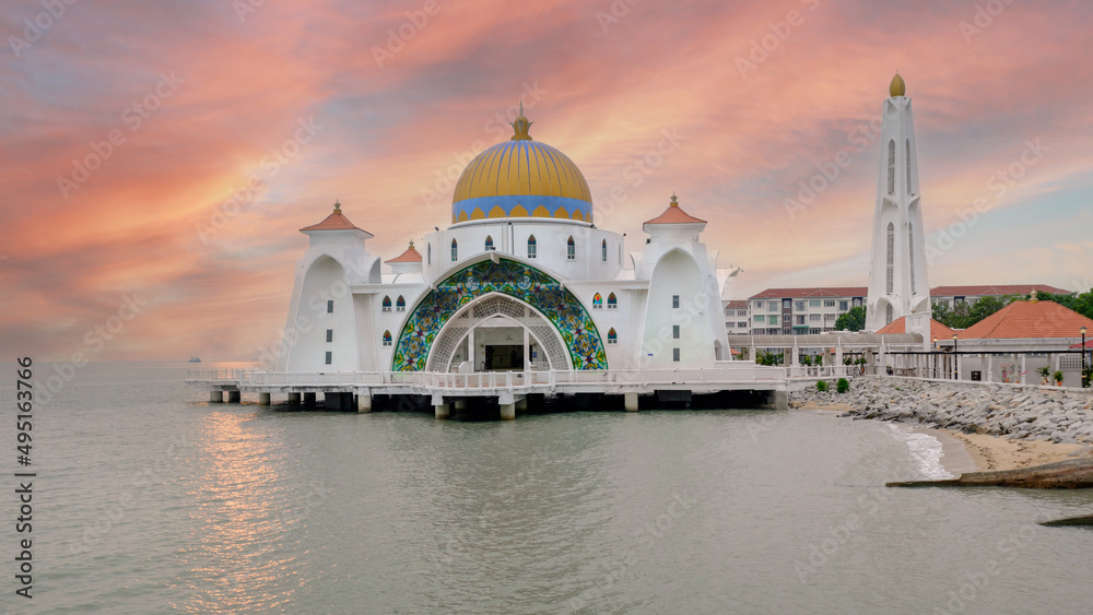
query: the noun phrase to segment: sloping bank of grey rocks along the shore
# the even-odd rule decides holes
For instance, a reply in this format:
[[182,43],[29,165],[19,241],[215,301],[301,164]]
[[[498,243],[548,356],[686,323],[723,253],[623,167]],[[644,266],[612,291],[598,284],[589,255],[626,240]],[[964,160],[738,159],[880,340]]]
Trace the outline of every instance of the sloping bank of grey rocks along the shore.
[[861,377],[845,393],[810,387],[790,393],[796,407],[839,409],[841,416],[900,421],[927,428],[1013,440],[1093,442],[1093,389],[1014,387],[912,378]]

